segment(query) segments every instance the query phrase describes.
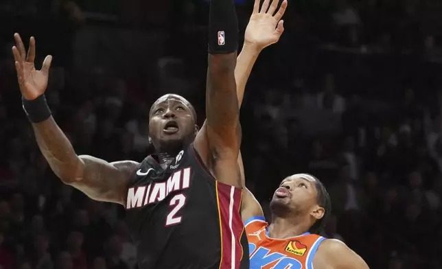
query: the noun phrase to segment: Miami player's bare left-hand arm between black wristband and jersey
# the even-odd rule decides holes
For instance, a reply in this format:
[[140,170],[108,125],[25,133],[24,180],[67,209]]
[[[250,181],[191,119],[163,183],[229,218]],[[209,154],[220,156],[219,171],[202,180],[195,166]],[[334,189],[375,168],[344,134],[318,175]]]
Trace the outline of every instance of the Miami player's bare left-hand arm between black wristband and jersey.
[[93,156],[78,156],[53,117],[32,127],[38,147],[63,183],[95,200],[124,204],[125,188],[136,162],[108,163]]

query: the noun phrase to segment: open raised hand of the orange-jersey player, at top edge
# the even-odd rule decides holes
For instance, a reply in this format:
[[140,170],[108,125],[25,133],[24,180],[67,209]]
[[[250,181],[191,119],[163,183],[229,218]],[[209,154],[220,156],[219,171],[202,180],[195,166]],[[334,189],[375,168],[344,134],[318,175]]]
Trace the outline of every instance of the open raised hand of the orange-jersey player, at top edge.
[[275,14],[279,1],[272,0],[269,7],[270,0],[264,0],[259,8],[260,0],[255,0],[253,13],[246,27],[244,45],[261,50],[278,42],[284,32],[284,21],[281,18],[287,8],[287,0],[283,0],[281,7]]

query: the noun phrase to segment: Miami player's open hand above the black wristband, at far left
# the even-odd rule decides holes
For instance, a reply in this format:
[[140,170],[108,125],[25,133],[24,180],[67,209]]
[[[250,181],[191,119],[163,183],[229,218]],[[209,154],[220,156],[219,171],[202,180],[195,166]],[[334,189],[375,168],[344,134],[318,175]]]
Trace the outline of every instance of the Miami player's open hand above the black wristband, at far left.
[[46,56],[41,70],[36,70],[34,66],[35,38],[31,37],[27,54],[20,35],[14,34],[14,39],[16,46],[12,47],[12,53],[14,54],[21,95],[26,100],[34,100],[46,91],[52,56]]

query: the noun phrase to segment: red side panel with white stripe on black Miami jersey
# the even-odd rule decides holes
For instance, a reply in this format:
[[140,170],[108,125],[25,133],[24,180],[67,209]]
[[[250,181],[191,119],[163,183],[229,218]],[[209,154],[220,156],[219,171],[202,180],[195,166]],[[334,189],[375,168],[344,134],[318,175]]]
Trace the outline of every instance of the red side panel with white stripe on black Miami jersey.
[[237,269],[243,255],[241,235],[244,225],[240,215],[242,190],[216,181],[216,198],[220,218],[220,269]]

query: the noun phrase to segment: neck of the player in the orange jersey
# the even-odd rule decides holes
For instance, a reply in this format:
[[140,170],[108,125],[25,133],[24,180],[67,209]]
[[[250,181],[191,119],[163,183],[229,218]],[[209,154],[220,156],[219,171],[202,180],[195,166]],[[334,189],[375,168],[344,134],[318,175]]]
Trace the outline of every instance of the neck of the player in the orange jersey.
[[[296,223],[296,224],[294,224]],[[268,227],[268,235],[272,238],[284,239],[302,235],[310,229],[310,225],[299,217],[280,218],[272,216],[272,224]]]

